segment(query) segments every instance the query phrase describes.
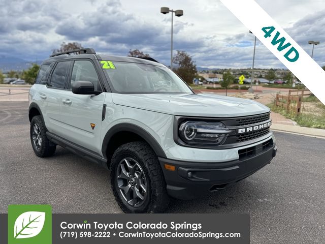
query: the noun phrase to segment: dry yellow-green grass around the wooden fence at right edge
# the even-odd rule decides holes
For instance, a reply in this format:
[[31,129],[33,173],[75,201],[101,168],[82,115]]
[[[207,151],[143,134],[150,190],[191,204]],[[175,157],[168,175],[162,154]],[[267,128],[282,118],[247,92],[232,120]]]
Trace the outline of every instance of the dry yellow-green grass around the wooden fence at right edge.
[[[271,108],[273,112],[280,113],[286,118],[292,119],[297,122],[298,125],[309,128],[325,129],[325,106],[319,102],[319,100],[310,96],[304,98],[304,102],[312,102],[316,104],[316,107],[320,109],[320,115],[311,114],[311,113],[302,113],[297,115],[294,111],[286,111],[285,108],[276,107],[273,103],[268,104],[267,106]],[[318,105],[318,102],[320,105]]]

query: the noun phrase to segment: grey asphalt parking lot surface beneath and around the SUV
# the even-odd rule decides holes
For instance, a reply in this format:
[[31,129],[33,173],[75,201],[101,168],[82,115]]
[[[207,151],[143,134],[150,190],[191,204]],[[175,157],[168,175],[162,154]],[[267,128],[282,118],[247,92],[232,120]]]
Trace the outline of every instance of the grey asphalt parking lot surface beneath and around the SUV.
[[[58,147],[35,156],[27,102],[0,102],[0,212],[50,204],[60,213],[119,213],[109,172]],[[275,132],[278,155],[237,185],[169,213],[248,213],[251,243],[325,243],[325,140]]]

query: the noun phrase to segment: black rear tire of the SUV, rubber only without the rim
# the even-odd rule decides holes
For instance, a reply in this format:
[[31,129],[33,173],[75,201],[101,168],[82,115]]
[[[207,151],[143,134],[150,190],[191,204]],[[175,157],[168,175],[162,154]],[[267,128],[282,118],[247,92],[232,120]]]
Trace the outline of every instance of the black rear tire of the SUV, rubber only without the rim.
[[[34,125],[37,124],[40,129],[40,138],[42,139],[41,146],[37,148],[34,144],[32,134],[34,130]],[[38,157],[50,157],[55,153],[56,145],[51,143],[46,136],[46,127],[43,123],[43,119],[40,115],[32,117],[30,121],[30,142],[32,149]]]

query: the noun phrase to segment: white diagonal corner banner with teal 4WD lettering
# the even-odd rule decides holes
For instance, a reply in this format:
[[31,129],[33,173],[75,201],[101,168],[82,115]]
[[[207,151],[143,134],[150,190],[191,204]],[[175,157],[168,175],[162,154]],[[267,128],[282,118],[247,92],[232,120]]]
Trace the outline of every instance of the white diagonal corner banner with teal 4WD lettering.
[[267,12],[254,0],[221,2],[325,104],[325,71]]

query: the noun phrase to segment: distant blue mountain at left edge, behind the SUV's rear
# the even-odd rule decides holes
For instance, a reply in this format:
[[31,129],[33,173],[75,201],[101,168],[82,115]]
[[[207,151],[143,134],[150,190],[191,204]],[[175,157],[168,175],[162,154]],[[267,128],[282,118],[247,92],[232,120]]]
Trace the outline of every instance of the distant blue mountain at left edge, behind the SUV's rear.
[[27,61],[22,58],[0,56],[0,70],[4,73],[11,70],[22,71],[28,69],[32,63],[40,65],[42,61]]

